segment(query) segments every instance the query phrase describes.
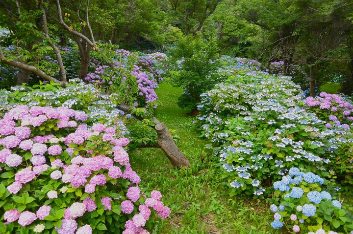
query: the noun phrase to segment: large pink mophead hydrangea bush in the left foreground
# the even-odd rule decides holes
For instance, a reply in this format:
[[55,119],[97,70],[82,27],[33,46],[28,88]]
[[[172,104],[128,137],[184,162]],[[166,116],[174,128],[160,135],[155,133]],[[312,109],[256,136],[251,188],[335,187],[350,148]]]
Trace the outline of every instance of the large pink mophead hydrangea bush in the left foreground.
[[[143,229],[170,210],[139,188],[118,129],[65,106],[24,105],[0,120],[0,232],[90,234]],[[125,229],[125,231],[123,231]]]

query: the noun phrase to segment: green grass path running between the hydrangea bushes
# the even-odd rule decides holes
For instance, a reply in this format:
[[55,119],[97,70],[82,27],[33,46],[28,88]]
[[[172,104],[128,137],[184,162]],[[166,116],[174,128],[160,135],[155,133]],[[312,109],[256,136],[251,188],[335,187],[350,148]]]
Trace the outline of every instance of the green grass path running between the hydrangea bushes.
[[216,159],[204,151],[193,117],[177,105],[181,89],[164,82],[157,90],[161,105],[155,117],[175,131],[179,149],[190,160],[190,169],[176,169],[160,149],[138,149],[130,153],[131,165],[140,175],[141,187],[163,194],[171,208],[170,218],[156,219],[153,234],[269,234],[272,213],[259,200],[229,197],[222,185]]

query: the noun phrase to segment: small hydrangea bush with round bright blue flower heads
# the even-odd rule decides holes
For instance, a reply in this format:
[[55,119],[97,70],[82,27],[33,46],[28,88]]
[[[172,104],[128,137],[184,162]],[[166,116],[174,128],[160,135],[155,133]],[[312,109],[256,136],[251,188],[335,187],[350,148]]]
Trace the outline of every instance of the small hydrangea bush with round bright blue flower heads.
[[[274,229],[285,226],[294,233],[351,232],[351,216],[341,202],[333,200],[331,194],[323,189],[323,184],[324,179],[320,176],[291,168],[288,175],[274,183],[274,195],[279,197],[279,206],[272,204],[270,207],[275,219],[271,226]],[[322,229],[325,231],[319,231]]]

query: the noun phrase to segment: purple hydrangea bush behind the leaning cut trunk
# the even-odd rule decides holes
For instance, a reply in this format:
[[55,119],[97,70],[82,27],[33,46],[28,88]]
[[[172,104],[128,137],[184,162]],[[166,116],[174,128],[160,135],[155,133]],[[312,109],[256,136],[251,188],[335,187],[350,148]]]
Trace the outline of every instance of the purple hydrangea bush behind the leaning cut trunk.
[[110,65],[97,61],[95,71],[85,78],[107,93],[119,93],[124,102],[135,107],[156,107],[154,89],[162,81],[160,71],[147,55],[116,50]]

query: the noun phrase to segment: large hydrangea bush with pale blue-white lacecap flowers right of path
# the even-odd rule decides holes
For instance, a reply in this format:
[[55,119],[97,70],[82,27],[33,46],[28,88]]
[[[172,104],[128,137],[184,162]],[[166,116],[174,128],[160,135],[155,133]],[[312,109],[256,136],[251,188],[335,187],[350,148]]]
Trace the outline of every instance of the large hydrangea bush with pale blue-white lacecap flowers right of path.
[[260,71],[238,72],[202,95],[197,122],[215,147],[231,195],[262,195],[291,167],[328,176],[323,169],[335,169],[341,160],[336,149],[352,147],[352,132],[327,129],[302,99],[290,77]]

